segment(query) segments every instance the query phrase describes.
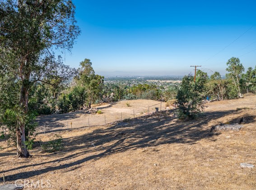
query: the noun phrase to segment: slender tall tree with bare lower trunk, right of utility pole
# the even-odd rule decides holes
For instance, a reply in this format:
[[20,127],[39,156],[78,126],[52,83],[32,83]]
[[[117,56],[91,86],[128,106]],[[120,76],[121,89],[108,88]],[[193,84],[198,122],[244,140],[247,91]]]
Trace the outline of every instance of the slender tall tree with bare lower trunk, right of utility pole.
[[227,62],[227,66],[228,68],[226,71],[229,72],[227,77],[232,79],[237,90],[237,97],[240,97],[240,79],[242,72],[244,71],[244,67],[242,66],[242,63],[240,63],[240,59],[236,57],[231,57]]

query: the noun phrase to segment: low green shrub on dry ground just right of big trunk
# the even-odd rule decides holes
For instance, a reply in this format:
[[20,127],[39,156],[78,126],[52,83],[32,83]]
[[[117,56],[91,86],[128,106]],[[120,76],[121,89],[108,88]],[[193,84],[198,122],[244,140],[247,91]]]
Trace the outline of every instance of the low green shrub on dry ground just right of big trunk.
[[54,134],[50,137],[50,140],[47,143],[42,144],[41,147],[42,147],[42,150],[49,153],[63,150],[64,148],[63,139],[61,135]]

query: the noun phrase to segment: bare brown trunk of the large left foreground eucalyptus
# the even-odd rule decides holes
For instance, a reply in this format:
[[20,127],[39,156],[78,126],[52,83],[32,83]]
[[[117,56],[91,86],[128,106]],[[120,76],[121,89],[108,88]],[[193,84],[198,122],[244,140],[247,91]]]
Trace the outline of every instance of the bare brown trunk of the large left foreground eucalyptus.
[[[23,84],[21,86],[20,91],[20,104],[24,106],[24,113],[28,113],[28,87],[26,87],[26,84]],[[25,144],[25,124],[21,123],[19,125],[19,128],[16,131],[16,137],[17,137],[17,156],[18,157],[29,157],[29,152],[27,149],[27,146]]]

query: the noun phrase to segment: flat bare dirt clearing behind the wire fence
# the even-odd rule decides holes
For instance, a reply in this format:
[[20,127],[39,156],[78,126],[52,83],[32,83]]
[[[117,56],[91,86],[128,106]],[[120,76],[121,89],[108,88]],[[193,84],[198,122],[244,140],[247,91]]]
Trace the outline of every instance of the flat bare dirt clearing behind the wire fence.
[[[150,107],[149,107],[150,106]],[[143,115],[152,114],[155,107],[165,110],[165,102],[154,100],[125,100],[115,103],[104,103],[96,106],[102,114],[87,114],[86,110],[79,110],[66,114],[40,115],[37,117],[39,133],[51,133],[67,128],[81,128],[111,124],[123,119],[137,118]]]

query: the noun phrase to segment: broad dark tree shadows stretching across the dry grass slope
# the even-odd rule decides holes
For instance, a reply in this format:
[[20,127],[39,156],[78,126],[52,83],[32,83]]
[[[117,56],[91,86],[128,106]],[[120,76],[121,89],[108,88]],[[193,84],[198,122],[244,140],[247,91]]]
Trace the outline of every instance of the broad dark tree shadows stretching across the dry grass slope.
[[[230,114],[232,111],[212,111],[200,119],[181,121],[170,115],[172,110],[164,111],[158,115],[133,119],[127,123],[117,123],[110,127],[99,127],[84,135],[65,138],[65,150],[58,153],[59,158],[42,163],[20,166],[2,172],[9,172],[27,167],[35,167],[47,163],[63,164],[42,168],[33,172],[17,172],[6,176],[8,180],[17,180],[40,175],[44,172],[60,170],[63,168],[79,167],[79,164],[92,159],[100,159],[108,155],[135,150],[145,147],[154,147],[163,144],[194,144],[201,139],[208,138],[214,141],[214,136],[220,133],[210,131],[208,122],[220,116]],[[51,155],[54,157],[55,155]],[[77,159],[78,158],[78,159]],[[70,159],[75,161],[71,161]]]

